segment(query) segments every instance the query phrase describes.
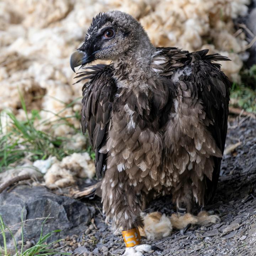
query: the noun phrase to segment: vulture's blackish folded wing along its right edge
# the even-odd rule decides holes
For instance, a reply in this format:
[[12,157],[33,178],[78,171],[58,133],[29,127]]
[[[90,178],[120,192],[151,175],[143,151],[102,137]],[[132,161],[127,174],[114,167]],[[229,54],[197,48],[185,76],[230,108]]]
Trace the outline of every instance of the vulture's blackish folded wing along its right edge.
[[[228,128],[230,81],[220,71],[220,65],[212,62],[229,59],[218,53],[206,55],[207,52],[208,50],[202,50],[191,53],[192,77],[194,77],[192,82],[198,87],[198,97],[202,99],[204,110],[213,123],[209,125],[209,130],[218,148],[223,153]],[[206,202],[214,196],[219,179],[221,160],[222,158],[214,157],[212,180],[207,178]]]

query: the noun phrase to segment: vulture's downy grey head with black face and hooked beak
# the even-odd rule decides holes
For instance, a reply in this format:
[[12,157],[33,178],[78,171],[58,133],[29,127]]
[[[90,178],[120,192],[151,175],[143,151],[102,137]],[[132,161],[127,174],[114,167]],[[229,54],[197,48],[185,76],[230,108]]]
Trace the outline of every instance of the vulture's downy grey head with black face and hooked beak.
[[[84,43],[70,58],[70,66],[89,64],[94,60],[119,60],[154,48],[140,23],[121,11],[96,15],[85,36]],[[139,54],[140,55],[140,54]]]

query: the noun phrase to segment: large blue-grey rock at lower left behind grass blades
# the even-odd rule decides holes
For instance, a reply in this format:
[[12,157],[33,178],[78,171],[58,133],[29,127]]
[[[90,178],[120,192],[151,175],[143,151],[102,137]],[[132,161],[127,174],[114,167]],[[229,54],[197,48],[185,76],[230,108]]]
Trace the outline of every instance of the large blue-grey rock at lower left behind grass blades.
[[[0,215],[6,226],[15,225],[12,228],[16,240],[20,240],[21,214],[23,212],[24,240],[37,241],[40,236],[40,228],[43,218],[49,216],[43,227],[43,234],[53,230],[62,230],[54,233],[50,241],[64,238],[67,235],[81,234],[87,228],[92,215],[91,209],[86,203],[75,199],[59,196],[47,190],[45,187],[18,186],[11,192],[0,194]],[[8,234],[7,234],[8,235]],[[2,244],[0,237],[0,245]],[[12,245],[12,239],[7,236],[7,242]]]

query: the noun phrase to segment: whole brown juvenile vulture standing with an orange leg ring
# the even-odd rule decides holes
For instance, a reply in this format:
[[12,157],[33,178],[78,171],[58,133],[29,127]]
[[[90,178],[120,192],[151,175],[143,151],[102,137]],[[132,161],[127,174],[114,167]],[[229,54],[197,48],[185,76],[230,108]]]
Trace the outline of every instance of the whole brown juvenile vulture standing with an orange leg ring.
[[102,177],[103,210],[124,230],[124,255],[158,249],[139,245],[145,203],[170,196],[182,216],[214,195],[230,86],[216,62],[229,59],[207,53],[155,47],[137,20],[110,11],[93,18],[71,55],[74,71],[97,59],[112,61],[77,77],[89,79],[82,89],[82,131],[88,130]]

